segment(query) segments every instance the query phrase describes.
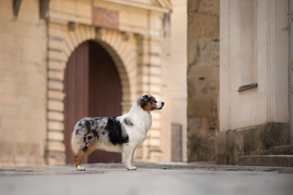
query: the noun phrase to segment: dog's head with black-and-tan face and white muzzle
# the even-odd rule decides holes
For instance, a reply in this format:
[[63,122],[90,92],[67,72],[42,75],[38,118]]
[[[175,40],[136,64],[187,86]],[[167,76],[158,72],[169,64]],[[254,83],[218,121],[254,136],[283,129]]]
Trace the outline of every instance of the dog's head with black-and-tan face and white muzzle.
[[137,104],[145,111],[151,112],[154,110],[161,110],[164,102],[157,101],[152,95],[143,95],[137,99]]

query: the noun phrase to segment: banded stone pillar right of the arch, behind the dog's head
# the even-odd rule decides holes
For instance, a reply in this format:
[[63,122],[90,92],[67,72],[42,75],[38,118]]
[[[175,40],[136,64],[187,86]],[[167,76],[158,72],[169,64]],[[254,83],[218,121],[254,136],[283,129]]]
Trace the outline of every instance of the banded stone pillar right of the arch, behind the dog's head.
[[[137,96],[151,94],[161,98],[161,39],[137,35],[138,49],[138,90]],[[151,112],[153,124],[148,138],[135,154],[137,161],[157,162],[161,160],[161,112]]]

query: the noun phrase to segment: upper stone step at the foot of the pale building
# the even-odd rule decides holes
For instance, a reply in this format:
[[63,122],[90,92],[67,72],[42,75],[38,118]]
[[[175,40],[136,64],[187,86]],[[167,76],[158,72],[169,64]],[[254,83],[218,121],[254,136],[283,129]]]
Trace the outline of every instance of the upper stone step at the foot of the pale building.
[[293,145],[274,146],[267,150],[256,150],[244,155],[293,155]]

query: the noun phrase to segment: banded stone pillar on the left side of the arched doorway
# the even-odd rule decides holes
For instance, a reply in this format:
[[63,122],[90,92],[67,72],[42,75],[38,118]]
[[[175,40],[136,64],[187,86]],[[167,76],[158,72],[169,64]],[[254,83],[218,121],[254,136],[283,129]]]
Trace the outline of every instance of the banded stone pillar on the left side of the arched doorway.
[[65,164],[63,80],[67,58],[63,54],[63,32],[67,26],[48,22],[47,55],[47,144],[45,158],[49,165]]

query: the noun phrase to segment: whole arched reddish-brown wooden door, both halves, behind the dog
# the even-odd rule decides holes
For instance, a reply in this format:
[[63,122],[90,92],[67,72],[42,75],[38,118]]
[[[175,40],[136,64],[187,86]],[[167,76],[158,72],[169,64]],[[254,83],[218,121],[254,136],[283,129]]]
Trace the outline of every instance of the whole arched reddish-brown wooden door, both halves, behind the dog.
[[[64,143],[66,163],[74,163],[70,139],[83,117],[121,115],[121,85],[115,64],[98,43],[86,41],[71,54],[64,75]],[[121,162],[120,153],[97,150],[84,163]]]

